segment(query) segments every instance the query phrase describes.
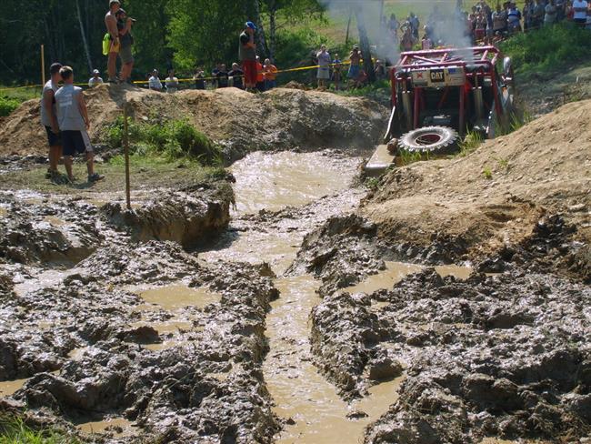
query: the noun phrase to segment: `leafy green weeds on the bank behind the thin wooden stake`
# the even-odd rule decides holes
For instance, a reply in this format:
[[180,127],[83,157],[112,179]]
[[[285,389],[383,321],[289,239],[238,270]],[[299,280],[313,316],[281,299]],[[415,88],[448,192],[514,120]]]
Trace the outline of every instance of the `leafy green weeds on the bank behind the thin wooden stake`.
[[[147,123],[130,119],[128,130],[132,155],[163,158],[168,162],[184,159],[202,166],[221,166],[224,163],[219,146],[186,120]],[[118,117],[107,126],[102,138],[111,148],[121,148],[124,138],[123,117]]]

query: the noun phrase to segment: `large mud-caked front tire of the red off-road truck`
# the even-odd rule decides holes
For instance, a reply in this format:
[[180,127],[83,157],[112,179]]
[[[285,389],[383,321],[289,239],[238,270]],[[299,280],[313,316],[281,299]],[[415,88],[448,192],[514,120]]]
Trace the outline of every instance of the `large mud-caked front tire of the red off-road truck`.
[[446,126],[413,129],[398,139],[398,147],[410,153],[448,154],[456,150],[459,136]]

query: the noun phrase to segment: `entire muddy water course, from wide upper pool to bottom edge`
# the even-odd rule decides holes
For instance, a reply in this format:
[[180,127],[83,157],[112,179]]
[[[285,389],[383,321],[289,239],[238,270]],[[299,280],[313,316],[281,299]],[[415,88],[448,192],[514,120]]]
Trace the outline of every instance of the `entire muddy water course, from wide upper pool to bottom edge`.
[[320,282],[307,273],[282,276],[306,234],[329,217],[353,212],[365,196],[363,189],[350,187],[361,159],[327,156],[255,153],[235,164],[238,217],[220,242],[200,254],[207,262],[228,257],[265,262],[278,276],[274,284],[280,298],[266,318],[270,351],[263,363],[275,414],[285,424],[277,442],[357,442],[396,397],[402,379],[371,388],[365,399],[342,399],[310,354],[308,317],[321,301],[316,294]]

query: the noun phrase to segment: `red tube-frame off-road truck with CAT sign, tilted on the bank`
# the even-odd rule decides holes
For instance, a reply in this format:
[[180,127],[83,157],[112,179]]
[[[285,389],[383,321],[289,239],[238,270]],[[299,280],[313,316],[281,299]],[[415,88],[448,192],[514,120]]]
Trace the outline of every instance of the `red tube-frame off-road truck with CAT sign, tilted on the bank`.
[[[409,51],[390,70],[386,140],[407,152],[453,151],[466,131],[495,137],[513,109],[511,60],[495,46]],[[498,70],[502,69],[499,73]]]

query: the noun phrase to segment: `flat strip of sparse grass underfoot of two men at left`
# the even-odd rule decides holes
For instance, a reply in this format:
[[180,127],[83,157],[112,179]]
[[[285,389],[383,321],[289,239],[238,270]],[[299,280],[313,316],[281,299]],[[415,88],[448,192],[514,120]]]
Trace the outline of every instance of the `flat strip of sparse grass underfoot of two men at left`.
[[[65,172],[64,166],[59,166]],[[73,185],[55,185],[45,178],[45,166],[29,170],[7,173],[0,181],[0,189],[30,189],[40,193],[80,195],[114,193],[121,196],[125,193],[125,161],[123,156],[115,156],[104,164],[95,164],[95,171],[105,175],[105,179],[95,184],[86,182],[86,165],[76,162],[73,166],[74,176],[78,180]],[[164,157],[130,156],[131,189],[145,190],[153,188],[190,187],[208,182],[219,181],[225,177],[225,169],[221,166],[202,166],[190,159],[168,161]],[[220,187],[230,187],[221,182]],[[231,188],[231,187],[230,187]]]

